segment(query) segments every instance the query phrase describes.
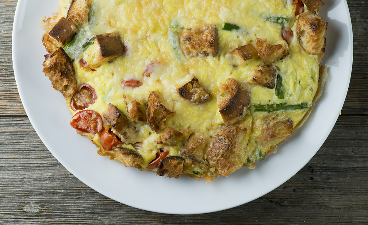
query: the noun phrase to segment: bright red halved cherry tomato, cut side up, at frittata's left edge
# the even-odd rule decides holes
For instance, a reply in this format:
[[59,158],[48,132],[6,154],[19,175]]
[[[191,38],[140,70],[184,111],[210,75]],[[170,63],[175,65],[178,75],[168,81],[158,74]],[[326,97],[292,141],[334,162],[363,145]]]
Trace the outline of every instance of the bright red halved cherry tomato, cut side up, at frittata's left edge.
[[83,110],[74,114],[70,126],[86,133],[97,133],[102,130],[101,116],[92,110]]

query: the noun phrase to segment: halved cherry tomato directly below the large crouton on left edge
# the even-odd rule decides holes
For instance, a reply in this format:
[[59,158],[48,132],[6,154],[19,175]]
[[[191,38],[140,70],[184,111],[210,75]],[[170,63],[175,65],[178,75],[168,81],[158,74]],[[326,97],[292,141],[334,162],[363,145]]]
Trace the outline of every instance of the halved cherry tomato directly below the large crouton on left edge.
[[95,89],[88,84],[81,84],[79,91],[75,92],[70,101],[70,108],[74,111],[88,108],[95,103],[97,95]]

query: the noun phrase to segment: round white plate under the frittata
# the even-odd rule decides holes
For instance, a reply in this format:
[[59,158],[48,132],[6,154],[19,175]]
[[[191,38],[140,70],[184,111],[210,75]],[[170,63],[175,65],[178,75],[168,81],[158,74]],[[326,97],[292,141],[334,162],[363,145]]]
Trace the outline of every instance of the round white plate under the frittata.
[[345,0],[324,0],[321,17],[328,22],[323,63],[330,76],[307,122],[289,141],[256,163],[229,177],[204,183],[181,176],[169,179],[153,172],[125,168],[70,127],[71,114],[63,96],[42,73],[43,31],[40,18],[57,12],[58,0],[19,0],[13,27],[15,79],[26,113],[39,137],[59,162],[99,193],[144,210],[198,214],[235,207],[272,191],[296,174],[321,147],[332,130],[347,93],[353,63],[353,32]]

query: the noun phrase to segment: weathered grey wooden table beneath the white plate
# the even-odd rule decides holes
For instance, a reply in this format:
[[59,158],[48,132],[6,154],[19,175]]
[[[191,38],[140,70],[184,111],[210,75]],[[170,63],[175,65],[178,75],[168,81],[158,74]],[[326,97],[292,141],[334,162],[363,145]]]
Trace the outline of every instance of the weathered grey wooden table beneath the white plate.
[[342,114],[321,149],[276,190],[201,215],[159,214],[118,203],[53,157],[33,130],[15,84],[16,4],[0,0],[0,224],[368,224],[368,1],[348,0],[353,73]]

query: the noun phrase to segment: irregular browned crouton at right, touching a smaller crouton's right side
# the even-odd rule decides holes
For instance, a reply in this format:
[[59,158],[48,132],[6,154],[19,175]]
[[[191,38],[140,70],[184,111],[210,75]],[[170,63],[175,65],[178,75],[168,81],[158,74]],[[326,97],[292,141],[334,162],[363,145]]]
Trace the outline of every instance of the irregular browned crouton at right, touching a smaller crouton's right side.
[[267,43],[267,38],[256,38],[255,44],[257,47],[258,55],[261,57],[263,63],[265,63],[266,66],[271,66],[271,64],[275,61],[282,60],[287,55],[289,55],[289,50],[287,49],[286,42],[284,42],[284,45],[270,45],[269,43]]

